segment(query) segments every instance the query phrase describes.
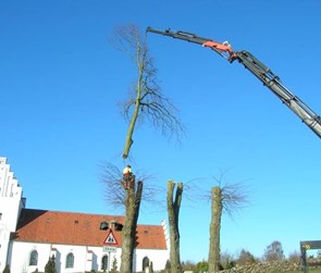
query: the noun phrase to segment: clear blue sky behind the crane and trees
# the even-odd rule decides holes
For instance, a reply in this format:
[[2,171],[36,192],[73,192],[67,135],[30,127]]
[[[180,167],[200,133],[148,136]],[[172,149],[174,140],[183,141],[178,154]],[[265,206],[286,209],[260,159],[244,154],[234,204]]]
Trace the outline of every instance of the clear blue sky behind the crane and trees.
[[[106,203],[101,162],[120,169],[126,124],[118,102],[136,77],[108,42],[115,26],[171,27],[246,49],[321,113],[321,2],[30,0],[0,2],[0,156],[27,207],[115,212]],[[133,171],[194,181],[209,193],[220,170],[245,181],[250,206],[223,218],[222,251],[261,257],[280,240],[286,255],[321,239],[320,139],[238,63],[209,49],[150,34],[162,91],[181,111],[182,145],[149,126],[134,135]],[[203,177],[203,179],[196,179]],[[188,193],[181,211],[182,260],[208,258],[210,203]],[[164,195],[164,194],[163,194]],[[187,197],[187,190],[186,190]],[[165,195],[163,196],[165,198]],[[190,199],[192,198],[192,199]],[[165,210],[145,206],[139,223]]]

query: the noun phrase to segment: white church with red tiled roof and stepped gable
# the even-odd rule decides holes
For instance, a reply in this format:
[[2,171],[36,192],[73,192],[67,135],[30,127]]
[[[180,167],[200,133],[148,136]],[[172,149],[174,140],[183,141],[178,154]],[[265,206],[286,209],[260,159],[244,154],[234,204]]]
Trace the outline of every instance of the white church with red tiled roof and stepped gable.
[[[120,269],[124,216],[27,209],[22,188],[0,158],[0,272],[45,272],[50,257],[58,273]],[[166,226],[138,225],[134,272],[169,260]]]

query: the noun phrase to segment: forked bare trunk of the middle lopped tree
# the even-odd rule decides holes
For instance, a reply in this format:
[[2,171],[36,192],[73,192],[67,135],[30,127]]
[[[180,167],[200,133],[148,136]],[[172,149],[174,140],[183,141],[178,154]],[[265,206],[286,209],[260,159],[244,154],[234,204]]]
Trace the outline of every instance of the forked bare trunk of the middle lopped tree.
[[168,183],[168,213],[170,226],[170,261],[171,273],[182,273],[182,264],[180,258],[180,229],[178,229],[178,214],[183,195],[183,183],[177,184],[175,199],[173,200],[175,183],[170,181]]

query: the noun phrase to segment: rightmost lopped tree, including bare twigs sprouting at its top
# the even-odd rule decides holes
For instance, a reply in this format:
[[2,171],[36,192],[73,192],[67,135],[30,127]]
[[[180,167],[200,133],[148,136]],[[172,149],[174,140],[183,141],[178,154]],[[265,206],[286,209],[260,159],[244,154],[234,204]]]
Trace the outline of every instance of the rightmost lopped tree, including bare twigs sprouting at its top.
[[248,203],[246,187],[243,183],[222,185],[223,173],[215,179],[219,184],[211,190],[211,223],[209,246],[209,273],[220,271],[221,249],[221,222],[222,214],[226,212],[232,216],[236,211]]

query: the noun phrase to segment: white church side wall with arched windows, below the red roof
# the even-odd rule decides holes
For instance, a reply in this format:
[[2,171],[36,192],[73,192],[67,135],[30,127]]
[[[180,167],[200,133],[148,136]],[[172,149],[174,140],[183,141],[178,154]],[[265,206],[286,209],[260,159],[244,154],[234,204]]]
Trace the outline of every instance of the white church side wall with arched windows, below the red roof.
[[[37,265],[29,265],[30,253],[34,250],[38,252],[38,262]],[[114,259],[116,260],[118,269],[120,269],[121,248],[116,248],[115,250],[115,252],[108,252],[103,247],[13,241],[9,249],[9,263],[11,272],[32,273],[36,269],[44,272],[49,257],[53,255],[55,257],[57,273],[85,272],[90,270],[100,271],[102,269],[102,257],[108,256],[108,269],[112,269]],[[66,257],[69,253],[74,256],[74,266],[71,269],[66,268]],[[143,271],[144,258],[148,258],[152,262],[155,271],[160,271],[165,268],[169,252],[168,250],[136,249],[134,257],[134,272]]]

